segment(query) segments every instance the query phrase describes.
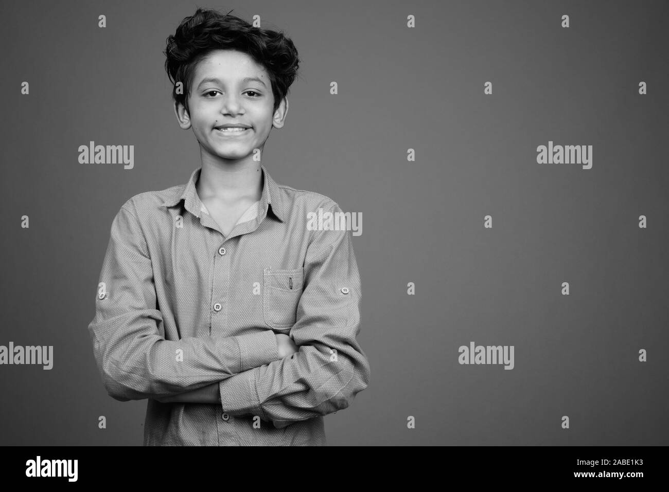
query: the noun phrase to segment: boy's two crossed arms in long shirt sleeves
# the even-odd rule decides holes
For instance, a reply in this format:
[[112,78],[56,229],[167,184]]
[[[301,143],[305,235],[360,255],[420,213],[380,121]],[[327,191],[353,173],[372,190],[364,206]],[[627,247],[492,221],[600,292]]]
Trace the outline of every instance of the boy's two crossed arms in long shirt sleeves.
[[[322,205],[343,213],[336,203]],[[229,415],[258,415],[282,428],[347,408],[369,383],[369,362],[356,339],[361,283],[346,229],[310,231],[290,337],[263,330],[165,340],[132,200],[112,223],[99,287],[88,329],[104,386],[116,400],[220,404]]]

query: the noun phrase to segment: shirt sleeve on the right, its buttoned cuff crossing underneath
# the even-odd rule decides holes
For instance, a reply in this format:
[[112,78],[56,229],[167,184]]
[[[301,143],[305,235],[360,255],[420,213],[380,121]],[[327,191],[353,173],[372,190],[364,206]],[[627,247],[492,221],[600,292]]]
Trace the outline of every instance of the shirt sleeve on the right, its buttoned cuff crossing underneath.
[[[330,213],[339,212],[334,203]],[[347,408],[369,384],[369,363],[357,342],[361,282],[351,231],[312,231],[304,290],[290,337],[299,350],[219,383],[231,415],[253,414],[283,428]]]

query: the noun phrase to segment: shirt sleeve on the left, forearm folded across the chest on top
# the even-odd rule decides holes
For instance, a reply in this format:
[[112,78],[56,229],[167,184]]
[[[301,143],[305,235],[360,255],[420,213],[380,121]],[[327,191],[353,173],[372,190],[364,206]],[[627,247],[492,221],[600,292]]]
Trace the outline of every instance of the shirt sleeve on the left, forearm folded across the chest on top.
[[108,394],[119,401],[195,390],[278,359],[273,332],[165,340],[151,257],[130,201],[114,217],[88,325]]

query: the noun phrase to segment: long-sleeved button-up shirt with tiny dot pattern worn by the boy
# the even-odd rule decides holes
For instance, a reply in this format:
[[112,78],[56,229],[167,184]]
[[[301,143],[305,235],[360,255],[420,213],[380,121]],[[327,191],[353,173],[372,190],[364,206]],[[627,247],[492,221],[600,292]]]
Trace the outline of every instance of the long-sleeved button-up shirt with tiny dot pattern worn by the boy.
[[[197,195],[201,167],[112,221],[88,331],[108,394],[148,398],[145,446],[326,445],[323,416],[369,384],[350,228],[308,226],[341,208],[261,167],[262,198],[228,237]],[[298,352],[279,359],[278,333]],[[220,406],[155,399],[215,382]]]

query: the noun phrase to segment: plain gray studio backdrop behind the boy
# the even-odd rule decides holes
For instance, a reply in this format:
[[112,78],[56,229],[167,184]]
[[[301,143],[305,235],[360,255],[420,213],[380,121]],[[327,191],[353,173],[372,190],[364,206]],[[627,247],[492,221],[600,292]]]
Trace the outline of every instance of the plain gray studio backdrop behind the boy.
[[[363,214],[371,383],[330,445],[669,444],[664,1],[4,1],[0,345],[53,345],[54,368],[0,366],[1,444],[142,443],[147,401],[106,394],[87,326],[120,206],[200,165],[161,53],[197,5],[292,37],[263,163]],[[134,145],[134,169],[79,164],[90,140]],[[593,167],[537,164],[549,140]],[[515,368],[461,366],[470,341]]]

